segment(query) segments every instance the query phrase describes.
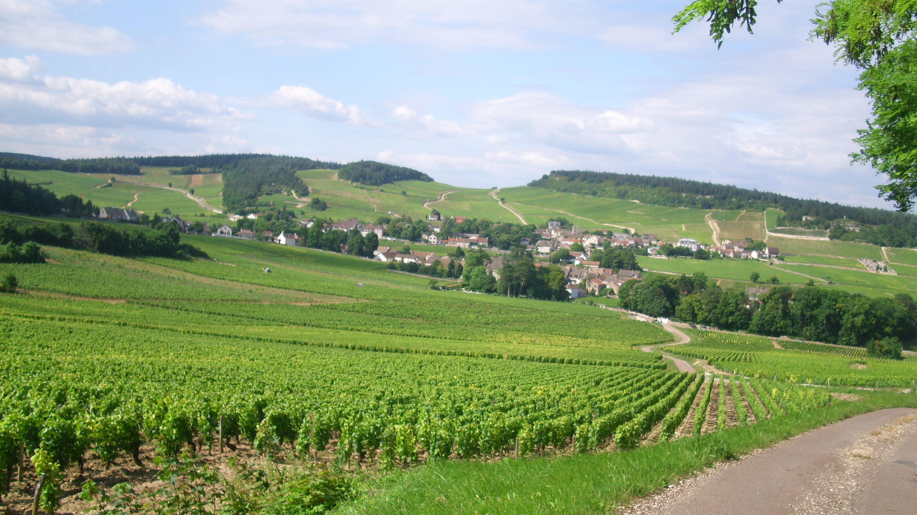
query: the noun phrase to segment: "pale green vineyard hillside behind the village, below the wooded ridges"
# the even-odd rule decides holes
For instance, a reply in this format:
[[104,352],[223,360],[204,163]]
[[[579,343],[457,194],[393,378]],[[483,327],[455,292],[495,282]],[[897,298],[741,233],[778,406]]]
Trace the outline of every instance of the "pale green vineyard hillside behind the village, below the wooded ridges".
[[[255,160],[245,161],[242,158]],[[870,296],[895,295],[917,288],[917,252],[907,247],[856,241],[857,236],[878,233],[880,226],[874,228],[871,225],[860,225],[859,232],[851,230],[845,234],[844,239],[828,240],[826,230],[787,225],[788,217],[777,207],[756,211],[750,208],[703,209],[685,205],[658,205],[598,194],[560,192],[532,185],[496,191],[457,188],[436,181],[395,181],[372,186],[342,180],[339,178],[340,170],[327,168],[295,170],[291,174],[294,161],[289,159],[300,158],[270,157],[270,162],[276,166],[262,167],[259,173],[247,172],[244,163],[257,163],[257,159],[269,158],[241,155],[142,159],[148,159],[144,163],[171,166],[143,164],[139,175],[114,175],[116,181],[112,184],[108,183],[112,175],[102,173],[11,170],[10,175],[42,184],[42,187],[59,196],[72,194],[91,200],[99,207],[131,207],[150,215],[168,209],[171,214],[179,214],[185,219],[199,218],[202,222],[212,224],[226,220],[226,214],[222,212],[227,207],[228,192],[229,203],[237,209],[239,204],[249,204],[243,213],[286,208],[300,218],[358,218],[370,222],[380,216],[424,219],[436,210],[446,217],[467,216],[507,225],[519,225],[522,222],[544,225],[548,219],[563,218],[572,225],[578,225],[580,231],[599,231],[604,234],[609,231],[620,232],[626,228],[632,233],[654,234],[669,242],[691,237],[702,244],[715,245],[727,239],[751,238],[754,241],[764,241],[770,247],[778,247],[783,261],[765,263],[641,257],[640,262],[643,268],[661,273],[691,274],[703,271],[708,277],[718,279],[724,287],[751,286],[749,277],[755,271],[762,278],[777,277],[784,284],[803,285],[812,279],[829,289],[861,292]],[[189,163],[198,167],[198,173],[174,175],[178,169],[173,167],[188,166]],[[304,159],[299,164],[315,167],[328,165],[311,159]],[[215,168],[207,168],[205,165],[227,168],[223,173],[214,173]],[[225,181],[227,177],[234,184],[228,188]],[[604,175],[589,177],[607,178]],[[653,180],[657,179],[662,181],[659,178]],[[558,182],[554,179],[539,181]],[[577,187],[590,184],[589,181],[567,181],[566,178],[560,182]],[[673,184],[677,185],[677,182]],[[703,186],[703,183],[698,185],[689,182],[691,187]],[[667,187],[661,184],[655,184],[650,189],[665,190]],[[630,188],[629,192],[636,194],[639,192],[637,186],[627,187]],[[724,191],[732,192],[729,189],[732,187],[723,188],[726,189]],[[669,188],[668,191],[674,190]],[[755,202],[761,198],[771,198],[762,196],[764,193],[757,194],[759,196]],[[666,198],[677,201],[670,203],[681,203],[679,199],[693,198],[691,202],[698,199],[697,196],[681,195],[668,195]],[[319,199],[325,203],[326,209],[311,209],[311,199]],[[500,199],[505,200],[505,203],[501,203]],[[874,211],[880,210],[867,210],[865,213]],[[904,221],[911,216],[883,213],[883,216],[891,215],[895,220]],[[819,223],[822,222],[826,221],[819,219]],[[869,271],[857,260],[860,258],[886,263],[897,275]]]

